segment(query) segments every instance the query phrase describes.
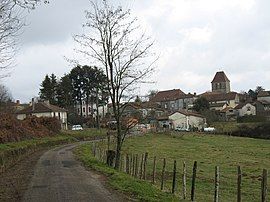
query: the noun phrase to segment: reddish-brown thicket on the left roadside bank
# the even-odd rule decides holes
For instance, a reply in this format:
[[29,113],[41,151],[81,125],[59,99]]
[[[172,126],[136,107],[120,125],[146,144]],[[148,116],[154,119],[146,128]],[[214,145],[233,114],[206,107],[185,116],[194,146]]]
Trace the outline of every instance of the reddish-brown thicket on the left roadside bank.
[[60,129],[56,118],[30,116],[21,121],[11,114],[0,114],[0,143],[52,136]]

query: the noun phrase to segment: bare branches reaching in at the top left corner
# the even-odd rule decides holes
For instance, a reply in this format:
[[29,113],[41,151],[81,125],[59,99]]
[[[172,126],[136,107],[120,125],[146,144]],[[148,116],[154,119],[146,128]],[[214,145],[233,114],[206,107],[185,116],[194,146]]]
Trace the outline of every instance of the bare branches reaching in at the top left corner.
[[[11,66],[16,53],[17,38],[25,26],[23,10],[34,9],[41,0],[0,1],[0,71]],[[48,1],[44,1],[48,3]],[[3,77],[4,75],[2,75]],[[0,74],[1,78],[1,74]]]

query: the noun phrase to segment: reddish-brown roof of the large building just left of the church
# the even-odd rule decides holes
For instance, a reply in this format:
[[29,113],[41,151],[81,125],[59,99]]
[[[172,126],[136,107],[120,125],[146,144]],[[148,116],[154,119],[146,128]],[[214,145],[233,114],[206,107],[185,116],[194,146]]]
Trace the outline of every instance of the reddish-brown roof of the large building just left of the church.
[[180,98],[193,97],[191,94],[185,94],[180,89],[159,91],[152,99],[152,102],[173,101]]

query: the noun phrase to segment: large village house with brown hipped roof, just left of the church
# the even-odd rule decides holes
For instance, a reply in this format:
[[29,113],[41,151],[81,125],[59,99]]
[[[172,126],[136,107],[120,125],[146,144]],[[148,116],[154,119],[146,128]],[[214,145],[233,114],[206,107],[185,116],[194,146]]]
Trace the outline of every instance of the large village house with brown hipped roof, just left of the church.
[[185,94],[180,89],[159,91],[150,101],[158,103],[162,109],[174,112],[193,107],[196,94]]

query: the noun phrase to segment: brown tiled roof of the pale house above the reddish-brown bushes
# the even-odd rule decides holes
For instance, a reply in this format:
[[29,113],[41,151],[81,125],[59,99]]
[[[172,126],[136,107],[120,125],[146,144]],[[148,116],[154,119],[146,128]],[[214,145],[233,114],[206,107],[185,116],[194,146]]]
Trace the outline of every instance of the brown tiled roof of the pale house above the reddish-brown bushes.
[[46,112],[67,112],[67,110],[45,102],[38,102],[35,103],[34,110],[32,106],[29,106],[25,109],[18,111],[17,114],[33,114]]

